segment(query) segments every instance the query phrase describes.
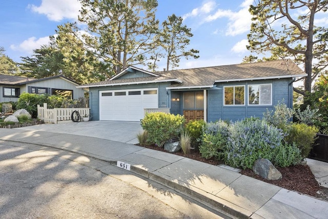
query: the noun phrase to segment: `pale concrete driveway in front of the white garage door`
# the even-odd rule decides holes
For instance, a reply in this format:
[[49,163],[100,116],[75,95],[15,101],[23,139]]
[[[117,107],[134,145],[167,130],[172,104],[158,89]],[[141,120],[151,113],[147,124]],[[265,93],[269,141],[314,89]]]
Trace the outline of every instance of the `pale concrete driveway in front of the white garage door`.
[[128,144],[137,144],[137,134],[142,132],[140,122],[121,121],[65,121],[58,124],[47,123],[17,129],[87,136]]

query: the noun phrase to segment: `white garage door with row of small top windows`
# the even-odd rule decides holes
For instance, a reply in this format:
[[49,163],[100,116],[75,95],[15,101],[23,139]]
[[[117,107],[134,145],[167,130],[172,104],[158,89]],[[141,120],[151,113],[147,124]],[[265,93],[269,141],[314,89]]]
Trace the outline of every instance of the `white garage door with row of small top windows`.
[[100,120],[140,121],[144,108],[158,107],[158,89],[99,92]]

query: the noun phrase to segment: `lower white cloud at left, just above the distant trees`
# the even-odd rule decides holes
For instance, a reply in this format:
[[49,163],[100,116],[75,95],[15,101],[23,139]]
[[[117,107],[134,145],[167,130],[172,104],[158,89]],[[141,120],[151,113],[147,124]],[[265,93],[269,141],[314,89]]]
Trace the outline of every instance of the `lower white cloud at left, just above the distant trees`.
[[49,41],[50,41],[49,36],[41,37],[38,39],[33,36],[33,37],[30,37],[30,38],[24,40],[18,46],[10,45],[10,48],[14,51],[20,51],[23,53],[33,54],[34,49],[38,49],[42,45],[48,45]]

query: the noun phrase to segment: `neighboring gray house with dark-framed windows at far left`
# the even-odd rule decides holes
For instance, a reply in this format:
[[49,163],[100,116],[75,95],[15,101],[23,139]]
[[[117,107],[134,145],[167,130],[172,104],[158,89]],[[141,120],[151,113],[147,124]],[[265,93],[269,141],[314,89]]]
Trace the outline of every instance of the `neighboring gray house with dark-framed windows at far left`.
[[70,99],[84,97],[84,90],[76,82],[61,76],[42,79],[0,75],[0,102],[16,102],[23,92],[31,94],[63,95]]

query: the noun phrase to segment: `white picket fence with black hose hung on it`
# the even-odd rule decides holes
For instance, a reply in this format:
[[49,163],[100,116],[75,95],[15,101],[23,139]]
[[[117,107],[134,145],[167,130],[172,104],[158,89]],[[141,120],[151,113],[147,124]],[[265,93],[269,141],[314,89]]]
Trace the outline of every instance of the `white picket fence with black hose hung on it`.
[[45,123],[57,124],[58,121],[71,120],[73,111],[78,111],[81,117],[90,115],[90,108],[47,108],[47,103],[44,103],[43,107],[37,105],[37,118]]

